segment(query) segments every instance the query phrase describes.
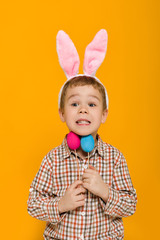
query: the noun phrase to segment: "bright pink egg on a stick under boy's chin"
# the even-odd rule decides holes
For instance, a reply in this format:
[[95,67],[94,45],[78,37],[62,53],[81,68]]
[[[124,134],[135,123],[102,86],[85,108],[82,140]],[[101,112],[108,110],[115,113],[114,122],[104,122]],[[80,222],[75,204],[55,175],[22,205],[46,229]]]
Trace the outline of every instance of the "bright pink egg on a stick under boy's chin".
[[77,134],[70,132],[67,135],[67,144],[70,149],[76,150],[80,147],[81,141]]

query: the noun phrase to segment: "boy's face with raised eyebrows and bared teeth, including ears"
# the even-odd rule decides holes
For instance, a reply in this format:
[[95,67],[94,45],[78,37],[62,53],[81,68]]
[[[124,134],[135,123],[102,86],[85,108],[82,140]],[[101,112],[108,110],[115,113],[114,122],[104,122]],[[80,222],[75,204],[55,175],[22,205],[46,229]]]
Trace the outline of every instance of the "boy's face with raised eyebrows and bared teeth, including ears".
[[64,111],[59,110],[60,118],[70,131],[94,139],[101,123],[105,123],[108,111],[103,110],[102,96],[91,85],[68,88]]

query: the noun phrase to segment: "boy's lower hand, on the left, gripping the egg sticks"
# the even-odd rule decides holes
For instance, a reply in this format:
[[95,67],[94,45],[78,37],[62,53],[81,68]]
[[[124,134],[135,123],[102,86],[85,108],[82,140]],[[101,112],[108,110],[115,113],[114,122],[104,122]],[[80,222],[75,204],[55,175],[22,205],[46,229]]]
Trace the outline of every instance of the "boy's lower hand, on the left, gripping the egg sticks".
[[60,213],[74,210],[84,206],[86,189],[82,186],[82,181],[75,181],[60,199],[58,209]]

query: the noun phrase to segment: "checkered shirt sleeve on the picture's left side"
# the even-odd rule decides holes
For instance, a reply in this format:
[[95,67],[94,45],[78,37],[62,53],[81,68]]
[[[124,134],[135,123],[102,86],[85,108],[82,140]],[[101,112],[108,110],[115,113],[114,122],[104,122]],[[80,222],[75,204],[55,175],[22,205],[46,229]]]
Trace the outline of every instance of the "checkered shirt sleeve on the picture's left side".
[[57,224],[65,214],[58,211],[60,197],[53,194],[52,161],[47,154],[30,187],[28,213],[39,220]]

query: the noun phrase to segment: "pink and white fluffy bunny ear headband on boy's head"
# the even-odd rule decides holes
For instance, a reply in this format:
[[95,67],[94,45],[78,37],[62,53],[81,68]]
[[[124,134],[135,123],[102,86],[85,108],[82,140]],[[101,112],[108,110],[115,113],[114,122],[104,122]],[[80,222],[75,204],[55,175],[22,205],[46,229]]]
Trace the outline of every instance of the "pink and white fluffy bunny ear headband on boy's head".
[[[57,53],[60,65],[67,77],[66,82],[68,82],[69,80],[76,76],[90,76],[93,77],[97,82],[99,82],[104,87],[100,80],[97,77],[95,77],[95,73],[105,58],[107,50],[107,41],[108,41],[107,32],[105,29],[101,29],[95,35],[92,42],[86,47],[83,64],[84,74],[78,74],[80,64],[78,52],[70,37],[64,31],[60,30],[57,34]],[[66,84],[66,82],[64,83],[64,85]],[[62,86],[59,93],[58,100],[59,106],[64,85]],[[108,109],[108,95],[106,89],[105,93],[106,93],[106,106]]]

